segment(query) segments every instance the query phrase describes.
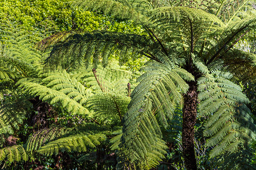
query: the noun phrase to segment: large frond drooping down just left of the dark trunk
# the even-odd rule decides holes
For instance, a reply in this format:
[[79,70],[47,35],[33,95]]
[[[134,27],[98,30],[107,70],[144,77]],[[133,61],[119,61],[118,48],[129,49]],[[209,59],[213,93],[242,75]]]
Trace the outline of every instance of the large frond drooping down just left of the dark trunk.
[[[148,62],[139,85],[131,95],[129,110],[124,116],[122,147],[125,156],[139,167],[150,169],[158,164],[165,153],[160,126],[166,128],[175,105],[181,100],[180,92],[186,92],[185,80],[193,76],[175,65],[166,56],[162,63]],[[185,79],[185,80],[184,80]],[[143,159],[142,159],[143,158]]]

